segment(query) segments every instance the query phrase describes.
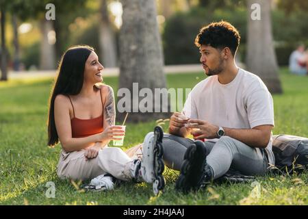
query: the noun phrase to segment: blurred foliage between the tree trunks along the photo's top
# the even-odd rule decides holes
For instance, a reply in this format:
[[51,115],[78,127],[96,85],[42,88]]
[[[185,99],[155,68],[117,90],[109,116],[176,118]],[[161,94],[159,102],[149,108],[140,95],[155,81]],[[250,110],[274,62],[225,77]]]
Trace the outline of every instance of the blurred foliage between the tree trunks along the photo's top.
[[[240,31],[242,40],[238,51],[238,60],[245,62],[246,1],[167,0],[168,3],[163,3],[163,1],[157,0],[157,14],[159,16],[159,30],[162,34],[165,64],[198,63],[199,53],[194,46],[194,38],[198,29],[212,21],[220,20],[229,21]],[[2,5],[3,2],[5,3],[5,0],[2,0]],[[112,2],[118,1],[107,0],[108,5]],[[274,45],[277,62],[280,66],[284,66],[288,64],[290,53],[298,42],[308,45],[308,1],[276,0],[273,2]],[[47,3],[54,3],[56,8],[56,20],[53,23],[57,33],[55,66],[57,66],[62,53],[73,44],[89,44],[97,49],[100,57],[99,0],[14,0],[14,3],[8,7],[5,25],[9,68],[12,68],[14,53],[11,22],[13,15],[18,16],[21,64],[25,70],[39,68],[40,44],[42,42],[40,19],[44,18],[46,12],[44,6]],[[168,14],[166,14],[166,7],[168,7]],[[119,28],[114,23],[116,17],[110,7],[108,16],[116,36],[116,49],[119,51]]]

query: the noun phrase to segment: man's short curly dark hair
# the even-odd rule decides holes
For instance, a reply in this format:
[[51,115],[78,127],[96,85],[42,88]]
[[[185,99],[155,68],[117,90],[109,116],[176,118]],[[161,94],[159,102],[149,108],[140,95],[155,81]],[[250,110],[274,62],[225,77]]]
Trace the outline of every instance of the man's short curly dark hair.
[[234,56],[240,44],[240,38],[238,30],[231,23],[220,21],[202,27],[194,40],[194,44],[196,47],[207,45],[215,49],[229,47]]

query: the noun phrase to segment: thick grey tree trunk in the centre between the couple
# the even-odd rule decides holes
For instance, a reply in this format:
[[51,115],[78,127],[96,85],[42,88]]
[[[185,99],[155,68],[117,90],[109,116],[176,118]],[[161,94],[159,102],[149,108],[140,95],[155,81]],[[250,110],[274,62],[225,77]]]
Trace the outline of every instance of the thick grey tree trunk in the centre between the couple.
[[[162,101],[162,99],[155,101],[154,97],[154,88],[166,88],[164,57],[156,20],[155,2],[154,0],[122,0],[121,3],[123,4],[123,25],[120,29],[119,88],[129,89],[131,112],[136,112],[133,107],[138,107],[140,103],[138,94],[133,92],[133,83],[138,83],[139,90],[149,88],[153,94],[152,109],[142,113],[138,107],[138,112],[130,114],[128,119],[138,122],[166,118],[170,114],[162,112],[162,109],[168,107],[168,101]],[[155,107],[159,108],[159,112],[155,113]],[[123,114],[118,114],[118,118],[123,118]]]

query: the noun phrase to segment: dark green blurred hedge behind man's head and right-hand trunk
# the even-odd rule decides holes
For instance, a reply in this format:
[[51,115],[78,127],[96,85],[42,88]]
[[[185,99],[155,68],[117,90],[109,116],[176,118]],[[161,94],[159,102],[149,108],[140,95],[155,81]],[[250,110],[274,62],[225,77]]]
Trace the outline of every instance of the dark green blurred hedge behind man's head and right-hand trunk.
[[[199,53],[194,47],[196,30],[213,21],[229,21],[241,35],[238,58],[245,62],[246,51],[246,5],[237,1],[235,5],[223,5],[220,8],[199,7],[189,12],[177,12],[170,17],[164,26],[164,55],[166,64],[194,64]],[[308,2],[308,1],[307,1]],[[285,66],[298,42],[308,45],[307,8],[297,8],[287,13],[287,4],[277,5],[272,10],[272,31],[277,53],[277,62]],[[201,19],[203,18],[203,19]]]

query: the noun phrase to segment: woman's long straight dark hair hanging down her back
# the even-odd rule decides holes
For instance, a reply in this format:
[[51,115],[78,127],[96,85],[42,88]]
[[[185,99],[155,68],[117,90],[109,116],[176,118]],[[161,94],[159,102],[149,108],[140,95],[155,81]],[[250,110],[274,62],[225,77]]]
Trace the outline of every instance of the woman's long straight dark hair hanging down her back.
[[84,67],[86,60],[94,49],[87,45],[70,47],[62,55],[57,69],[57,79],[49,99],[48,117],[48,145],[54,146],[59,142],[57,129],[55,128],[55,96],[57,94],[76,95],[81,91],[84,83]]

